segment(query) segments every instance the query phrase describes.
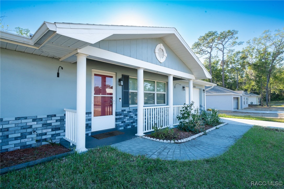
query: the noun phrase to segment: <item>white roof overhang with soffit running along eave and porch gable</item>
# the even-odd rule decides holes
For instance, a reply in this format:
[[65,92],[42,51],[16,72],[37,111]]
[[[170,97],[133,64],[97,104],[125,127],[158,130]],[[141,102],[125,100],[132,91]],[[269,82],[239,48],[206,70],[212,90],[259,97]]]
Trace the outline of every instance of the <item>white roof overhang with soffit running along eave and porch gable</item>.
[[[60,58],[70,63],[76,61],[73,56],[76,50],[101,40],[161,38],[192,71],[195,79],[211,78],[175,28],[43,22],[32,37],[3,31],[0,34],[1,48]],[[8,44],[16,46],[8,47]]]

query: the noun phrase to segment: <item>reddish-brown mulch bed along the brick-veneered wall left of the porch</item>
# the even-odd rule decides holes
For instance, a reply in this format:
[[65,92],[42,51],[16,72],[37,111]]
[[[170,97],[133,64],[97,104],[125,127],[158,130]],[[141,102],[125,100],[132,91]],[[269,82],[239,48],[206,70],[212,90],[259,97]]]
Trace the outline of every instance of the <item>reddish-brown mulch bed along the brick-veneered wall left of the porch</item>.
[[63,146],[45,144],[35,148],[14,150],[11,152],[0,153],[0,168],[11,167],[21,163],[47,158],[57,154],[70,152],[70,149]]

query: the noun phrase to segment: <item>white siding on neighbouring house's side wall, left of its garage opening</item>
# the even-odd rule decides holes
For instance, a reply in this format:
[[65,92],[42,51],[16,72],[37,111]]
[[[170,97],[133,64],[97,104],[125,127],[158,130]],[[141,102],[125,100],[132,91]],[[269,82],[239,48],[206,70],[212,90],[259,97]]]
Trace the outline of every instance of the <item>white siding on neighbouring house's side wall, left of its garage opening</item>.
[[233,111],[233,96],[228,95],[206,95],[206,108]]

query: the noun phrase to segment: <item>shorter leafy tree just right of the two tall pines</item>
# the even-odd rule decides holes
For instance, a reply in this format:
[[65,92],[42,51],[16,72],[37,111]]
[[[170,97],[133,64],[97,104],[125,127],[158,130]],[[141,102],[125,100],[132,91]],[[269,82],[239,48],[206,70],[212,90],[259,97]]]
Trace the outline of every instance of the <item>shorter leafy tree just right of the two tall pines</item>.
[[248,65],[247,62],[248,53],[247,51],[236,51],[227,54],[226,65],[230,68],[230,75],[234,77],[236,81],[236,89],[239,90],[239,78],[245,74],[245,68]]

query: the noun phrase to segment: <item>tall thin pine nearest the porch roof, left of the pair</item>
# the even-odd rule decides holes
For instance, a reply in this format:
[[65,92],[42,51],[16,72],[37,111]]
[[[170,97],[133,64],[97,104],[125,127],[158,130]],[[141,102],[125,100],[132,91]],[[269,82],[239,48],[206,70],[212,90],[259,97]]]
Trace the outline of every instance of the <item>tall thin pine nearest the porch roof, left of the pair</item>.
[[[214,49],[216,49],[216,40],[217,40],[218,33],[216,31],[209,31],[205,33],[205,35],[200,36],[198,38],[198,41],[195,42],[192,45],[192,50],[194,53],[198,54],[201,58],[204,55],[208,55],[205,59],[208,59],[208,68],[210,75],[212,75],[212,68],[211,68],[211,59],[214,52]],[[210,82],[212,83],[212,78],[210,79]]]

